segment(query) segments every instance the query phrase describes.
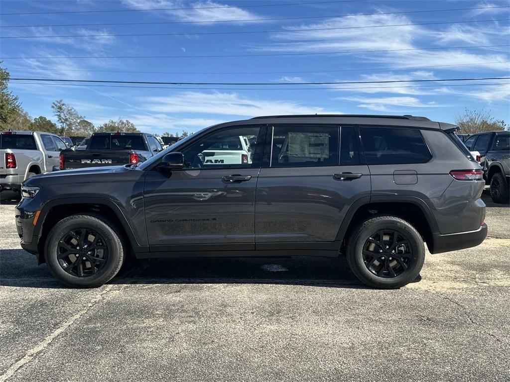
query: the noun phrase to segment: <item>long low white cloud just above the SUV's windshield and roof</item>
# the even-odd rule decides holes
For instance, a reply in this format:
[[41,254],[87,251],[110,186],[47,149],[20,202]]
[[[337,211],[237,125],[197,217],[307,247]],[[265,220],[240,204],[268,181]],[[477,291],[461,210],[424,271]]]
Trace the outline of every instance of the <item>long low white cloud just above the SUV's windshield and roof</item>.
[[328,112],[322,107],[304,106],[292,101],[247,98],[238,93],[184,92],[168,97],[146,97],[144,108],[161,113],[198,113],[229,116],[315,114]]

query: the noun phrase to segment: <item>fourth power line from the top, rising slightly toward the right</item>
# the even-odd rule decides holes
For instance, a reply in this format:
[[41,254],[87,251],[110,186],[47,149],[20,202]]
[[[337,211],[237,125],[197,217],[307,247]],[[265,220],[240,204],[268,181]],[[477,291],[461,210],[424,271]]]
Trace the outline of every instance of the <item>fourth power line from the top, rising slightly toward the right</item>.
[[320,56],[324,54],[351,54],[351,53],[385,53],[404,52],[418,50],[442,50],[442,49],[473,49],[473,48],[496,48],[507,47],[503,45],[474,45],[474,46],[442,46],[433,48],[406,48],[406,49],[376,49],[376,50],[342,50],[334,52],[298,52],[298,53],[263,53],[263,54],[213,54],[200,56],[25,56],[25,57],[0,57],[0,60],[34,60],[34,59],[195,59],[195,58],[230,58],[230,57],[279,57],[279,56]]

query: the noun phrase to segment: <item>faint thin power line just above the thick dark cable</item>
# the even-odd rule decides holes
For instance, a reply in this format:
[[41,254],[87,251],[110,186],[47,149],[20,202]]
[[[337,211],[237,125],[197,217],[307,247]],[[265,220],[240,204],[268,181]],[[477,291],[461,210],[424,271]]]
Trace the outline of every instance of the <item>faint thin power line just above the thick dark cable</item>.
[[[137,74],[303,74],[303,73],[339,73],[339,72],[359,72],[359,71],[373,71],[373,70],[401,70],[401,69],[424,69],[424,68],[442,68],[442,67],[457,67],[457,66],[474,66],[474,65],[487,65],[487,64],[510,64],[510,61],[490,61],[490,62],[476,62],[469,64],[445,64],[445,65],[423,65],[423,66],[397,66],[393,68],[377,67],[366,69],[339,69],[339,70],[307,70],[307,71],[279,71],[279,72],[161,72],[161,71],[133,71],[133,70],[93,70],[93,69],[49,69],[44,68],[45,71],[50,72],[93,72],[93,73],[137,73]],[[10,70],[24,70],[24,71],[40,71],[41,69],[32,68],[10,68]]]

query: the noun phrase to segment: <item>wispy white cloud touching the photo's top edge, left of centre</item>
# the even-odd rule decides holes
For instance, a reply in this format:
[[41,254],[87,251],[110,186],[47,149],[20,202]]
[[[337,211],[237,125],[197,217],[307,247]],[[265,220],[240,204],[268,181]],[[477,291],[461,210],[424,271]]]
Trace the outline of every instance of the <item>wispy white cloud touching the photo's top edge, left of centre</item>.
[[[224,20],[257,20],[260,17],[242,8],[230,7],[227,4],[216,3],[211,0],[187,3],[170,0],[122,0],[124,5],[134,9],[168,9],[168,8],[194,8],[186,10],[161,11],[162,15],[172,16],[179,21],[192,21],[203,24],[213,24]],[[229,6],[230,8],[218,8]],[[209,8],[209,9],[207,9]],[[240,24],[243,22],[239,22]]]

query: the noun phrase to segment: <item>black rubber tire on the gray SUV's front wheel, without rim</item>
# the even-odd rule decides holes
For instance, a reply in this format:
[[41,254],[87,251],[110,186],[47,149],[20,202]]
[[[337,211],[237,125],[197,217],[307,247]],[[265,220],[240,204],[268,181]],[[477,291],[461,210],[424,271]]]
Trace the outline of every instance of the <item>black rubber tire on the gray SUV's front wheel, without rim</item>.
[[[74,230],[77,232],[82,232],[81,230],[96,232],[101,238],[101,248],[105,248],[103,251],[107,254],[104,259],[91,257],[92,259],[97,258],[98,260],[102,260],[101,263],[95,262],[94,264],[96,265],[92,265],[92,260],[88,261],[90,260],[88,257],[87,260],[85,260],[85,256],[87,256],[87,254],[89,256],[99,256],[97,255],[97,251],[93,255],[90,255],[90,252],[87,254],[82,253],[76,255],[72,253],[71,255],[68,255],[65,259],[69,260],[71,265],[74,264],[72,259],[74,259],[76,263],[78,263],[78,261],[83,263],[80,266],[80,273],[82,276],[71,274],[64,270],[64,266],[60,263],[62,260],[58,259],[58,257],[61,257],[59,254],[61,254],[60,251],[61,246],[63,245],[62,243],[64,243],[64,237],[66,237],[66,235],[69,237],[69,232],[74,232]],[[87,235],[87,237],[90,236]],[[69,245],[67,246],[69,247]],[[46,238],[44,258],[49,271],[61,283],[73,288],[96,288],[110,281],[118,273],[122,263],[124,262],[125,248],[125,244],[122,240],[122,234],[118,228],[108,220],[104,219],[104,217],[88,214],[71,215],[58,222],[49,232],[48,237]],[[82,252],[83,251],[84,249],[82,249]],[[78,251],[76,252],[78,253]],[[84,261],[80,260],[82,255],[84,256]],[[90,269],[90,275],[87,274],[84,276],[83,265],[86,264],[88,264],[88,269]],[[94,274],[92,274],[92,266],[94,266]],[[98,268],[96,268],[96,266]],[[67,269],[68,266],[65,268]],[[87,269],[85,269],[85,273],[86,272]]]

